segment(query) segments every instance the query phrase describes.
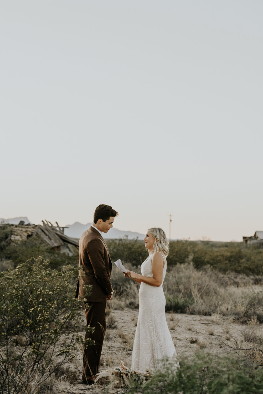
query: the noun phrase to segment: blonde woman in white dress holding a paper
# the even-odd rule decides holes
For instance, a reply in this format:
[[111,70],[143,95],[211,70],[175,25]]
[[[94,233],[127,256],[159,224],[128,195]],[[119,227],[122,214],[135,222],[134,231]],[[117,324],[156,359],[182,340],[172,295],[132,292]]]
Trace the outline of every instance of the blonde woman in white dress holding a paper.
[[145,371],[160,367],[161,359],[177,357],[165,318],[162,283],[166,273],[168,241],[164,230],[153,227],[144,238],[149,257],[142,263],[139,275],[124,273],[140,283],[139,315],[132,350],[132,370]]

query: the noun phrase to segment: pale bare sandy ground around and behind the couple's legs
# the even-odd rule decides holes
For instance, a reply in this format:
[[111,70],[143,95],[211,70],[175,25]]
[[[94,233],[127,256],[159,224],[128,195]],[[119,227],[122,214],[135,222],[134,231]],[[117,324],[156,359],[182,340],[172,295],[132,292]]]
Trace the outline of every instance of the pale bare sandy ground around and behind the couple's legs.
[[[123,310],[112,310],[108,314],[108,328],[102,350],[101,371],[118,367],[120,361],[131,367],[132,344],[137,318],[138,309],[124,308]],[[200,349],[223,355],[234,351],[231,347],[235,348],[237,344],[241,347],[247,347],[244,343],[244,330],[248,326],[234,322],[233,318],[223,317],[220,314],[199,316],[166,313],[166,321],[178,357],[185,355],[191,358]],[[262,335],[261,325],[257,325],[257,331],[259,335]],[[79,354],[72,364],[72,368],[79,370],[79,379],[81,379],[81,364],[82,359],[81,354]],[[106,386],[96,384],[86,386],[81,383],[69,384],[62,381],[56,384],[56,390],[58,393],[87,394],[105,392]],[[115,394],[124,393],[125,389],[116,388],[110,390],[110,392]]]

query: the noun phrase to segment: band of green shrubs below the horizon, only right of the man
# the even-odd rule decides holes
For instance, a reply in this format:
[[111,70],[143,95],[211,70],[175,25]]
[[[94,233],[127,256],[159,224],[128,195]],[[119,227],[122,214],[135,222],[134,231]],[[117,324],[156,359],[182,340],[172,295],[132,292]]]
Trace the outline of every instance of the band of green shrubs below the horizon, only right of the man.
[[[142,264],[147,257],[144,243],[139,240],[108,240],[112,260],[121,258],[134,266]],[[216,270],[253,275],[255,282],[263,276],[263,249],[257,245],[245,247],[242,242],[195,242],[171,241],[169,243],[168,267],[192,261],[197,269],[211,266]]]

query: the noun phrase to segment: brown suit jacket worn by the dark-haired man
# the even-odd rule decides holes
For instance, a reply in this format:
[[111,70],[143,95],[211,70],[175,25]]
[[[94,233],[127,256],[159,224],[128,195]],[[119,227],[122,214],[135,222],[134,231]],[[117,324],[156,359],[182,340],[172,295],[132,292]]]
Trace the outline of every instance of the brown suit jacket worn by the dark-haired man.
[[[106,242],[99,231],[90,227],[84,231],[78,244],[80,271],[76,297],[85,297],[90,302],[106,303],[106,297],[112,292],[112,262]],[[83,289],[86,284],[92,285],[91,294],[88,296],[85,296]]]

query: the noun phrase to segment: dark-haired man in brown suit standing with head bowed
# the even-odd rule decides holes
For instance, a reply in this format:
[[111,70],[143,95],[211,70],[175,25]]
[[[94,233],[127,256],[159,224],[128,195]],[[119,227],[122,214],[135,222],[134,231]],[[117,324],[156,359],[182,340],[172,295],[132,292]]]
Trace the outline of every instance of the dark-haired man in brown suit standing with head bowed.
[[[106,233],[113,225],[118,212],[111,206],[101,204],[94,212],[93,225],[84,231],[79,240],[79,268],[76,297],[84,297],[88,302],[85,309],[87,326],[94,327],[93,334],[86,334],[95,345],[89,346],[83,354],[82,382],[93,384],[99,373],[101,349],[106,331],[106,302],[112,298],[114,290],[110,282],[112,262],[102,232]],[[92,285],[91,293],[85,295],[84,285]],[[104,383],[99,379],[98,383]]]

